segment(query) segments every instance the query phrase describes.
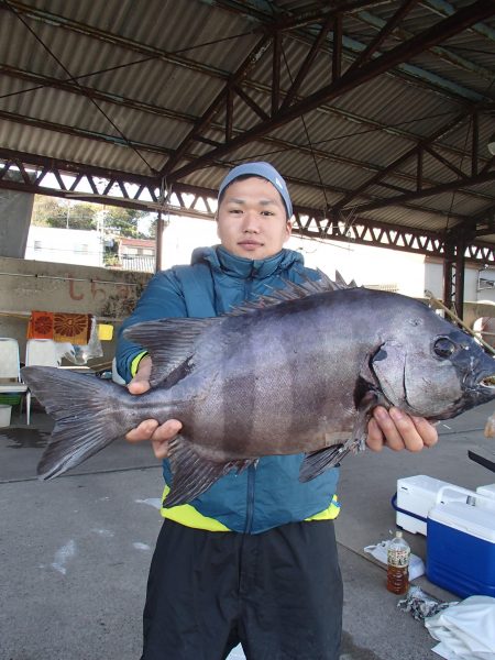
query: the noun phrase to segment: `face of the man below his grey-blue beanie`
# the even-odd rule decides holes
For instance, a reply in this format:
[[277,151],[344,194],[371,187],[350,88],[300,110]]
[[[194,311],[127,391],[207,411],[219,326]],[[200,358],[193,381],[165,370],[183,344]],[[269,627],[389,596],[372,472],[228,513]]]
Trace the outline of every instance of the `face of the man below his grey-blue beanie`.
[[217,233],[235,256],[258,260],[277,254],[290,235],[290,222],[277,189],[266,179],[234,180],[217,213]]

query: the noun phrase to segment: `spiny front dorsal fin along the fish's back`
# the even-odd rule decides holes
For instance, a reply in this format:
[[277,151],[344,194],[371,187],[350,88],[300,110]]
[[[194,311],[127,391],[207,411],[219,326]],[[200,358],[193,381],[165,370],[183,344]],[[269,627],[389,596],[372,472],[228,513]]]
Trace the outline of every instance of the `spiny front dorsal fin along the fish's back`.
[[284,288],[272,288],[271,294],[260,296],[256,300],[250,300],[242,302],[237,306],[230,316],[238,316],[252,311],[253,309],[263,309],[264,307],[273,307],[287,300],[299,300],[314,296],[315,294],[322,294],[326,292],[337,292],[344,288],[354,288],[358,285],[354,280],[346,284],[339,271],[336,271],[336,279],[331,279],[322,271],[317,271],[319,279],[310,279],[307,275],[304,275],[304,279],[300,283],[284,280]]

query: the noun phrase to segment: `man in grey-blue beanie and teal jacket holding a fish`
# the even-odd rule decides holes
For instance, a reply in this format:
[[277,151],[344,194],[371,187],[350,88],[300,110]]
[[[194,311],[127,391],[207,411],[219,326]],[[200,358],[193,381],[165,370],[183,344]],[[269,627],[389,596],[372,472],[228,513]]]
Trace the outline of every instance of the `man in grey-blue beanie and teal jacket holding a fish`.
[[[284,280],[317,278],[285,250],[292,201],[267,163],[234,167],[219,189],[220,245],[193,254],[191,266],[158,273],[130,324],[165,317],[211,317]],[[129,391],[150,388],[151,359],[119,340],[118,367]],[[178,420],[145,420],[127,436],[151,440],[166,459]],[[437,441],[425,419],[376,408],[367,444],[418,451]],[[333,518],[338,470],[298,480],[302,455],[264,457],[229,473],[188,505],[166,507],[150,570],[143,660],[223,660],[242,644],[249,660],[337,660],[342,584]],[[168,463],[164,477],[170,483]]]

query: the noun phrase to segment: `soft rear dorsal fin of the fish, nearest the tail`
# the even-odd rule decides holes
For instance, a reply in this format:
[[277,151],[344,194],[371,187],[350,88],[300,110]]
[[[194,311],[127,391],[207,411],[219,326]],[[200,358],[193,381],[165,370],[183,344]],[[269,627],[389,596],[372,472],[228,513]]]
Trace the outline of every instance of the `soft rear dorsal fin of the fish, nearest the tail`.
[[151,386],[172,387],[189,372],[199,338],[221,320],[215,317],[144,321],[127,328],[124,337],[150,353],[153,364]]

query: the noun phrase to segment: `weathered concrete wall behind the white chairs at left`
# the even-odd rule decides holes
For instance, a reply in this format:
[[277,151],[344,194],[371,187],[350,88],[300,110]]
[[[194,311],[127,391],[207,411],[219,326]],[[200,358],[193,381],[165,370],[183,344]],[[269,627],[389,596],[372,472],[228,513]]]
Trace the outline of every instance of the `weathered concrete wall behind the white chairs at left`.
[[[0,257],[0,337],[14,337],[21,359],[31,310],[94,314],[114,326],[129,316],[151,275]],[[102,342],[109,362],[114,341]]]

